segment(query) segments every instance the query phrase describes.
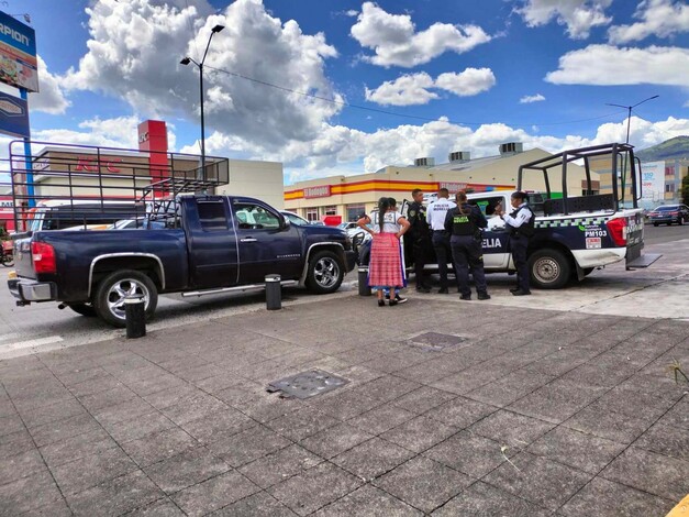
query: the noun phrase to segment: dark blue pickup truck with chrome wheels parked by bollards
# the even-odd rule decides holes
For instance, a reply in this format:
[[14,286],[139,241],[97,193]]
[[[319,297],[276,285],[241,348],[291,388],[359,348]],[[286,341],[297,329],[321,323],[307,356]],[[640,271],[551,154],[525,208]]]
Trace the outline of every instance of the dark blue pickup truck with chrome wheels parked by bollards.
[[180,196],[171,210],[148,218],[169,228],[16,235],[16,272],[8,280],[16,304],[57,301],[123,327],[129,295],[143,296],[151,318],[159,294],[247,290],[271,274],[333,293],[355,264],[345,232],[292,224],[253,198]]

